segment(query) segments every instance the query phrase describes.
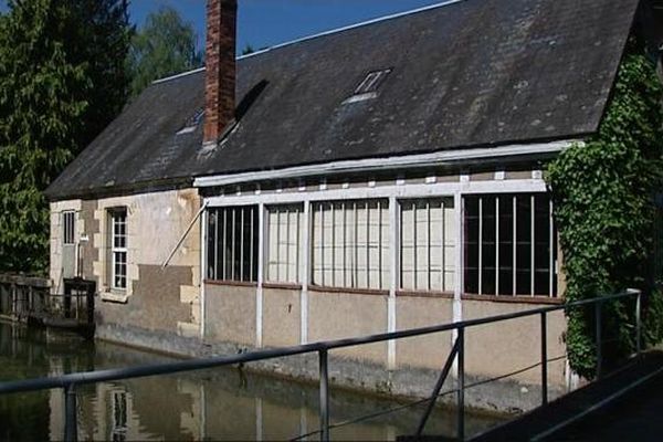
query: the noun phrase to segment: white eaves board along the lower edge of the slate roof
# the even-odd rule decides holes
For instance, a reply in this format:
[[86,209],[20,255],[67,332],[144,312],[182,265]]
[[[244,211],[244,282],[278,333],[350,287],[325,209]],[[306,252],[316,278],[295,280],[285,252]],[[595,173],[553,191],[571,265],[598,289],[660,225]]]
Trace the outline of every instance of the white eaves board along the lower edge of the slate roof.
[[[383,171],[396,168],[430,168],[475,160],[518,157],[524,155],[556,154],[578,140],[562,140],[545,144],[509,145],[462,150],[442,150],[432,154],[408,155],[387,158],[341,160],[309,166],[295,166],[277,170],[263,170],[231,175],[200,177],[193,180],[193,187],[218,187],[243,182],[273,179],[292,179],[332,173]],[[325,181],[326,182],[326,181]]]

